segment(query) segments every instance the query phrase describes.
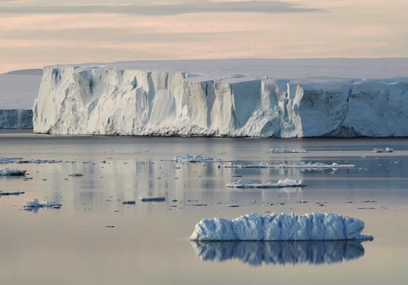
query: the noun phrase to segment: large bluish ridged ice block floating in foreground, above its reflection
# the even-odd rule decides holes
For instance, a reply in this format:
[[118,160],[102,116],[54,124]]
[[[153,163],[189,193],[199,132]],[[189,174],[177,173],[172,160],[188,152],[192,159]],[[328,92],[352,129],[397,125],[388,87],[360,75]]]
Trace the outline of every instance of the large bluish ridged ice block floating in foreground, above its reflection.
[[373,239],[361,235],[364,222],[341,214],[246,214],[237,219],[202,219],[193,241],[313,241]]

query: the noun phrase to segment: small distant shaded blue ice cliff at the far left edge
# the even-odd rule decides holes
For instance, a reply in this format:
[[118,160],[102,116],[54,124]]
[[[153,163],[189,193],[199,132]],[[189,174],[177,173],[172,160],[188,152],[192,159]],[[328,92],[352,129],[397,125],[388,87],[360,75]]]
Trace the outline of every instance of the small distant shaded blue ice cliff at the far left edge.
[[32,110],[0,110],[0,129],[32,129]]

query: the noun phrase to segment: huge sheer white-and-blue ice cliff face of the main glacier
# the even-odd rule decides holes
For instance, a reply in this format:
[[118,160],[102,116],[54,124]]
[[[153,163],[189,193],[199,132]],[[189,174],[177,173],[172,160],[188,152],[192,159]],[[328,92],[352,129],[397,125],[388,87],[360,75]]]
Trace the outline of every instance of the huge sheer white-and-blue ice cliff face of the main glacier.
[[408,136],[408,80],[279,80],[44,68],[34,131],[132,136]]

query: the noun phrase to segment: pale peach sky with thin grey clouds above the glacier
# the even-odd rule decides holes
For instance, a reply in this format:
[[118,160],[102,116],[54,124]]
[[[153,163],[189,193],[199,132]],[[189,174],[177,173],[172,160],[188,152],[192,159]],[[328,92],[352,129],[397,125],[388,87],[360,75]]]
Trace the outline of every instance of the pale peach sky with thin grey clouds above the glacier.
[[0,73],[139,59],[407,57],[407,0],[0,0]]

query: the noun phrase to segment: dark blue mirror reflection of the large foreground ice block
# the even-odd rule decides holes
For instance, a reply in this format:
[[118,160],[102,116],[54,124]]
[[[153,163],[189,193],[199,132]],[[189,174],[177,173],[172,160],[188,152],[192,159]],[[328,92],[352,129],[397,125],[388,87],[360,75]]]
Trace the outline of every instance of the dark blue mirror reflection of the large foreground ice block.
[[203,261],[238,259],[244,264],[331,264],[362,257],[363,241],[192,241]]

